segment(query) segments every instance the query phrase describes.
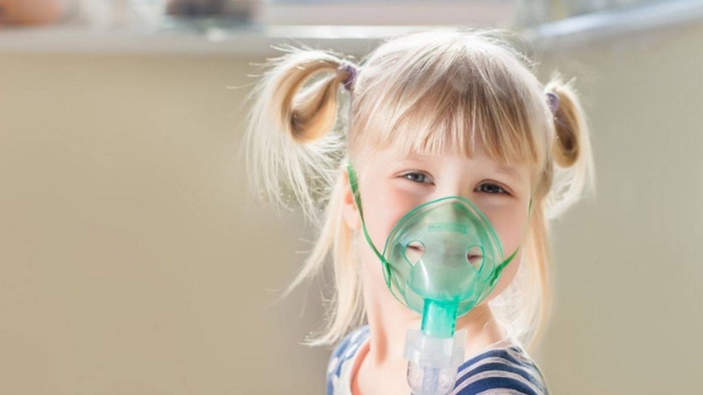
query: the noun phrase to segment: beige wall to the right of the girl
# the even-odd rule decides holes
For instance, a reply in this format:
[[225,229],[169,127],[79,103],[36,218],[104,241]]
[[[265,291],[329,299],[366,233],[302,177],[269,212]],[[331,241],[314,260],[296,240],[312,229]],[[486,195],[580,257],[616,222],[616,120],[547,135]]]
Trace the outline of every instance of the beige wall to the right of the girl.
[[598,191],[553,228],[558,394],[693,394],[703,371],[703,24],[545,60],[583,84]]

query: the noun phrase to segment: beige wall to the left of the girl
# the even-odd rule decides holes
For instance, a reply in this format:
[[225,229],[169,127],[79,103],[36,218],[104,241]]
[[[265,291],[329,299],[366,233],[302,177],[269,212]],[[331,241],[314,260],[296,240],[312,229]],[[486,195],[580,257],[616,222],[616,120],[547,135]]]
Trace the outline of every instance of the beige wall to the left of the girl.
[[[299,218],[252,205],[236,58],[0,56],[0,394],[315,393]],[[271,380],[271,373],[279,377]]]

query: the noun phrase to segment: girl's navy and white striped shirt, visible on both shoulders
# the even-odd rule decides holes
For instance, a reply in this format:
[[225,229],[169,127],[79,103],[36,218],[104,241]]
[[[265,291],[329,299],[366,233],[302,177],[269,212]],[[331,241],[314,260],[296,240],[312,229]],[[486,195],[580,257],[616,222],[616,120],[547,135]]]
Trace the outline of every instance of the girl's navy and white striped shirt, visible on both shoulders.
[[[368,347],[368,325],[335,347],[327,369],[327,395],[352,395],[352,368]],[[541,371],[519,345],[504,340],[460,365],[450,395],[548,395]]]

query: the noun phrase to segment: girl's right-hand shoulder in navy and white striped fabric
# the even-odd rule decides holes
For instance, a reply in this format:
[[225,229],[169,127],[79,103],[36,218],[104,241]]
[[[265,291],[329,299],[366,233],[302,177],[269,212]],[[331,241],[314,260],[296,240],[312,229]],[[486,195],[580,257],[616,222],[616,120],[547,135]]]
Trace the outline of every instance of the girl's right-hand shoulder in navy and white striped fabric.
[[451,395],[548,395],[541,371],[522,347],[492,349],[465,361]]

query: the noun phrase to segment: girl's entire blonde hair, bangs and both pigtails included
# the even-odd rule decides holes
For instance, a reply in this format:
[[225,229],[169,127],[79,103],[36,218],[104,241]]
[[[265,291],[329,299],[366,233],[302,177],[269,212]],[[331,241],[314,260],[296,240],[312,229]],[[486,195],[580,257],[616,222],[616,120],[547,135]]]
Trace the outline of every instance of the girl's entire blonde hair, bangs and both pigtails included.
[[[338,67],[352,58],[288,46],[269,59],[249,96],[247,174],[262,199],[274,207],[296,202],[317,231],[309,257],[280,297],[320,273],[330,255],[334,268],[325,328],[305,344],[334,344],[363,322],[359,238],[342,216],[347,160],[361,169],[368,148],[391,144],[471,155],[477,142],[496,160],[534,169],[523,262],[489,306],[510,335],[527,347],[535,343],[550,311],[548,220],[593,186],[593,160],[574,80],[555,74],[543,86],[534,63],[501,38],[505,33],[436,28],[394,37],[356,65],[349,92],[341,84],[349,72]],[[554,115],[548,91],[560,101]]]

